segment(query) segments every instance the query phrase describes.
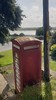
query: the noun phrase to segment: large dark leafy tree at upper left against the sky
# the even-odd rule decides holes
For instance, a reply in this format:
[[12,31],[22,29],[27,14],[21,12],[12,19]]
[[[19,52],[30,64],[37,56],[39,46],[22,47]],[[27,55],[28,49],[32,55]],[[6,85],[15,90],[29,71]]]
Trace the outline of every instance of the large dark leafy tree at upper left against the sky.
[[20,27],[24,16],[22,12],[16,0],[0,0],[0,43],[8,40],[9,30]]

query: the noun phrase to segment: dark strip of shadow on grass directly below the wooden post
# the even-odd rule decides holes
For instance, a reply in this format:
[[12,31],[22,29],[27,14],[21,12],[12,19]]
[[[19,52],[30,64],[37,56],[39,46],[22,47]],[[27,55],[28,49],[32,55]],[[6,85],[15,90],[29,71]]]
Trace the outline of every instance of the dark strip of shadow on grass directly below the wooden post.
[[45,82],[45,100],[53,100],[50,82]]

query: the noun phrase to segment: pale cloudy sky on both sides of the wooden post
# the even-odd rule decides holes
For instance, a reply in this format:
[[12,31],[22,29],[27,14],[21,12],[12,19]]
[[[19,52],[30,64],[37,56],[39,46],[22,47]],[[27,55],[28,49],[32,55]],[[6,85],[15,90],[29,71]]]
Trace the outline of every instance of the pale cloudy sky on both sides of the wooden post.
[[[22,27],[43,26],[43,0],[17,0],[26,18]],[[56,0],[49,0],[49,24],[56,26]]]

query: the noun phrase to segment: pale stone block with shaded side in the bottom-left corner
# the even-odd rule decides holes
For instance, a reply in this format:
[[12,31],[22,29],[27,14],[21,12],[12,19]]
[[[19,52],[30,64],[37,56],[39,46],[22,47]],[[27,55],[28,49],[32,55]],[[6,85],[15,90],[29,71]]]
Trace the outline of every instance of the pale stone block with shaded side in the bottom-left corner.
[[[11,100],[11,98],[13,98],[13,97],[15,97],[15,95],[11,91],[11,89],[10,89],[7,81],[3,77],[3,75],[0,74],[0,100]],[[14,100],[14,99],[12,99],[12,100]]]

